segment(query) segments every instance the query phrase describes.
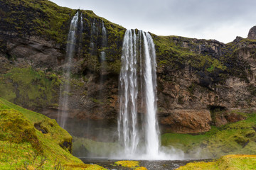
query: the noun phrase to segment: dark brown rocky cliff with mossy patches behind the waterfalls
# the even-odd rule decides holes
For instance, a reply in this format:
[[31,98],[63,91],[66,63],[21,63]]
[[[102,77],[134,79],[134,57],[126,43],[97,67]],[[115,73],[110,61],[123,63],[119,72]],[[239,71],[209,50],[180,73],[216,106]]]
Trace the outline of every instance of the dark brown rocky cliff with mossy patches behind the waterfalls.
[[[46,0],[0,0],[0,96],[56,118],[63,84],[65,45],[77,10]],[[117,127],[122,26],[79,11],[71,69],[69,119]],[[107,43],[102,46],[102,26]],[[137,31],[137,30],[136,30]],[[256,31],[224,44],[150,33],[156,47],[158,118],[161,132],[200,133],[210,125],[244,119],[232,113],[256,105]],[[101,52],[106,59],[101,59]],[[104,69],[102,69],[102,63]],[[143,107],[143,106],[142,106]],[[218,112],[223,111],[223,112]],[[142,113],[143,114],[143,113]],[[88,136],[88,132],[73,135]]]

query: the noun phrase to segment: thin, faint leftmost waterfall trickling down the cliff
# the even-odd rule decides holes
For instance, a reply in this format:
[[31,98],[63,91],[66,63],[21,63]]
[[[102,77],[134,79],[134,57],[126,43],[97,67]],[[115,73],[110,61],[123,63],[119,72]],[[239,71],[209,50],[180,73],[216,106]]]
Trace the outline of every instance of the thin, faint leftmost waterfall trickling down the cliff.
[[[68,42],[66,45],[65,66],[63,67],[63,77],[65,81],[60,87],[59,111],[57,122],[60,127],[65,128],[65,122],[68,118],[68,99],[70,94],[70,69],[73,67],[72,60],[75,54],[76,32],[78,29],[79,12],[75,13],[68,33]],[[82,20],[81,20],[82,21]]]

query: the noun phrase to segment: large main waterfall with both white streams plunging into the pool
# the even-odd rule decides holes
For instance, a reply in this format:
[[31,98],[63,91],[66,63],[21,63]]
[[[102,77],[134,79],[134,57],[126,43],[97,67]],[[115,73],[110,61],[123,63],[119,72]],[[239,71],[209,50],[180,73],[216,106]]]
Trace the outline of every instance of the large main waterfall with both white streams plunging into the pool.
[[142,30],[127,30],[121,60],[118,135],[123,154],[133,158],[157,157],[156,54],[151,35]]

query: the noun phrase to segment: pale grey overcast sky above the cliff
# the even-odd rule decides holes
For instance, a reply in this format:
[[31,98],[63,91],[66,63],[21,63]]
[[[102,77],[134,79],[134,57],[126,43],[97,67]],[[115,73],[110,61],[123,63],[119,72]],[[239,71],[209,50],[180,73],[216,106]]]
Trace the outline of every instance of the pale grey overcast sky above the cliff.
[[124,28],[232,42],[256,26],[255,0],[50,0],[92,10]]

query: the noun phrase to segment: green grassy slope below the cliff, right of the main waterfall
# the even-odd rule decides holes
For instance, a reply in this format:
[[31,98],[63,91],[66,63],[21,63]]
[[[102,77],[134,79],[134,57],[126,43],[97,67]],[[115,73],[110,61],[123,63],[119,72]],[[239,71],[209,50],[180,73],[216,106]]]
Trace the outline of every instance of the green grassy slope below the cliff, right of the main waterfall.
[[256,113],[246,120],[212,127],[199,135],[164,134],[161,144],[183,150],[191,158],[218,158],[225,154],[256,154]]

